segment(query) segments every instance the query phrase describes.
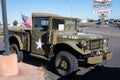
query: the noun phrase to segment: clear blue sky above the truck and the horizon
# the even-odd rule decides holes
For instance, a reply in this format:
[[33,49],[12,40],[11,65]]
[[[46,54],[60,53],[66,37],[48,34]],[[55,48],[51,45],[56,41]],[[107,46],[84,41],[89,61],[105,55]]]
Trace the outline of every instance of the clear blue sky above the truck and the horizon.
[[[112,2],[113,11],[107,16],[108,18],[120,18],[120,0],[112,0]],[[20,13],[31,17],[33,12],[43,12],[80,19],[98,19],[99,16],[93,14],[93,0],[6,0],[6,4],[8,23],[13,23],[14,20],[21,23]],[[0,22],[2,22],[2,13],[0,13]]]

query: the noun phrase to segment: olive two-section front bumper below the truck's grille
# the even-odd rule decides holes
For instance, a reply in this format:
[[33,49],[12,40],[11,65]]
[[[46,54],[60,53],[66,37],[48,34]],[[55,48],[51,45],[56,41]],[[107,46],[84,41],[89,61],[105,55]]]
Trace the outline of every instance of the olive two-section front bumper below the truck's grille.
[[88,64],[99,64],[102,63],[103,60],[110,60],[112,58],[112,53],[106,53],[105,55],[89,57],[87,59]]

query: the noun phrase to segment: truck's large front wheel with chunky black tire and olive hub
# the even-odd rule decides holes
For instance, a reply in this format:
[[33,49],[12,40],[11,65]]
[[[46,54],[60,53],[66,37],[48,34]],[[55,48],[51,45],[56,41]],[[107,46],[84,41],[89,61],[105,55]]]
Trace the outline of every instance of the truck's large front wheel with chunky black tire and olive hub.
[[56,56],[55,68],[59,75],[65,76],[78,70],[78,61],[69,52],[61,51]]

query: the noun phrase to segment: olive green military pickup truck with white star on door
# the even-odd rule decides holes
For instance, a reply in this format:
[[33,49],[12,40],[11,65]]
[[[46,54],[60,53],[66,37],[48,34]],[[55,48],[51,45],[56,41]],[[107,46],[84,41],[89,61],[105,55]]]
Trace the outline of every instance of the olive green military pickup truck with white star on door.
[[[47,13],[32,14],[32,29],[9,30],[11,50],[23,59],[23,51],[54,63],[64,76],[79,69],[110,60],[108,39],[78,31],[78,18]],[[53,65],[53,64],[51,64]]]

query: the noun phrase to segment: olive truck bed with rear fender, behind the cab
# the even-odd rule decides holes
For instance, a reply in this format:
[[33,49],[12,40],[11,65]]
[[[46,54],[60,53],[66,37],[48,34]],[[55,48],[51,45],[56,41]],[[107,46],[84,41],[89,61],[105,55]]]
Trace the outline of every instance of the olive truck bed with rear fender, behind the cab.
[[16,42],[19,47],[22,44],[20,50],[30,50],[32,29],[10,29],[8,33],[10,44]]

